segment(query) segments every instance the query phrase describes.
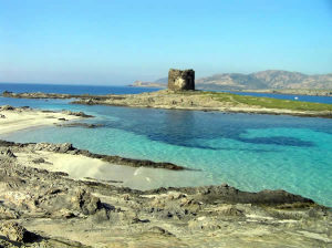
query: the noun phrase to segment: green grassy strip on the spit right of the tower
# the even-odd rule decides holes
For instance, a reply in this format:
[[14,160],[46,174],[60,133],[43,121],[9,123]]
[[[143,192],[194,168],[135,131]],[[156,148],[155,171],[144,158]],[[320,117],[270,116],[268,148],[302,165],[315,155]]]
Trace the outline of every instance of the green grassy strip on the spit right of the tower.
[[267,108],[283,108],[292,111],[332,111],[332,104],[309,103],[291,100],[279,100],[270,97],[256,97],[248,95],[237,95],[225,92],[200,92],[204,95],[210,95],[214,100],[220,102],[232,102],[235,104],[247,104],[250,106],[261,106]]

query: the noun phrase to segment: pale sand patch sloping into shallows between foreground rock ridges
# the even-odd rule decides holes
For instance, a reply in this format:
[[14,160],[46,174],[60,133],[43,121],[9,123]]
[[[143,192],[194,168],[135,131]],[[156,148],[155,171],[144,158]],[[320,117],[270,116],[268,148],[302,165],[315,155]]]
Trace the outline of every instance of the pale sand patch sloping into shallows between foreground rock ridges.
[[[83,155],[52,152],[15,153],[15,155],[18,161],[25,166],[43,168],[50,172],[64,172],[74,179],[90,178],[142,190],[167,186],[193,186],[201,178],[201,172],[131,167],[106,163],[98,158]],[[45,163],[33,163],[33,159],[37,158],[44,158]],[[183,178],[186,178],[186,180],[184,182]]]

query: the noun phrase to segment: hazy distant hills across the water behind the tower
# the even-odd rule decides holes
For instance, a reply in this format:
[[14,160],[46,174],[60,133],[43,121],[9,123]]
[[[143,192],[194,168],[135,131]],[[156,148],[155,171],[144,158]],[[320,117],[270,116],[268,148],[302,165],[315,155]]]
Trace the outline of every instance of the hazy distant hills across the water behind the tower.
[[[141,81],[136,81],[141,82]],[[167,86],[167,78],[133,86]],[[222,73],[196,80],[200,90],[332,89],[332,73],[307,75],[300,72],[268,70],[250,74]]]

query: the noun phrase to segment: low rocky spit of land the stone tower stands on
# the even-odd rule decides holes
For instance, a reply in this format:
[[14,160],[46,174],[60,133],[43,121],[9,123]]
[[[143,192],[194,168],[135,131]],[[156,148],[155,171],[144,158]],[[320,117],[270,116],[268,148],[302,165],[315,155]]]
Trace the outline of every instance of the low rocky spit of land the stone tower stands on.
[[[72,104],[86,105],[113,105],[128,107],[154,107],[167,110],[187,110],[187,111],[220,111],[228,113],[251,113],[251,114],[273,114],[273,115],[293,115],[303,117],[332,117],[332,107],[329,104],[304,103],[298,108],[292,106],[290,101],[276,100],[277,104],[259,103],[251,96],[248,103],[240,102],[243,97],[228,93],[214,93],[200,91],[176,92],[162,90],[152,93],[125,94],[125,95],[69,95],[50,93],[2,93],[6,97],[24,99],[74,99]],[[286,106],[280,107],[280,103]],[[263,104],[263,105],[260,105]],[[295,104],[299,104],[295,103]]]

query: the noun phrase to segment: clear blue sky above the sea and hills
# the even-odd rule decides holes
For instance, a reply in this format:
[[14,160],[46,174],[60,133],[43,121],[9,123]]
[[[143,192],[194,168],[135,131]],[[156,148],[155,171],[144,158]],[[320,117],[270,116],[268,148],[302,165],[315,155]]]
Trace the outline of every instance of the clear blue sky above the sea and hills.
[[0,82],[332,73],[332,0],[0,0]]

